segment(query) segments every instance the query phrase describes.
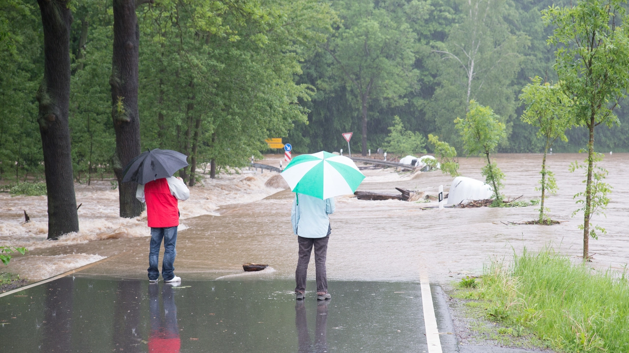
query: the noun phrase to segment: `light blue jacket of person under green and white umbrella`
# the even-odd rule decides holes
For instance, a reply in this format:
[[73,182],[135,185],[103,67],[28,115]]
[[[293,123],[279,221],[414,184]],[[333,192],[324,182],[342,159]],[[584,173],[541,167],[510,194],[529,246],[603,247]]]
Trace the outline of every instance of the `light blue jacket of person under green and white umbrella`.
[[334,198],[316,198],[296,193],[292,202],[292,231],[304,238],[322,238],[328,235],[329,214],[334,213]]

